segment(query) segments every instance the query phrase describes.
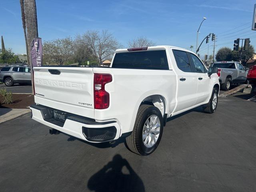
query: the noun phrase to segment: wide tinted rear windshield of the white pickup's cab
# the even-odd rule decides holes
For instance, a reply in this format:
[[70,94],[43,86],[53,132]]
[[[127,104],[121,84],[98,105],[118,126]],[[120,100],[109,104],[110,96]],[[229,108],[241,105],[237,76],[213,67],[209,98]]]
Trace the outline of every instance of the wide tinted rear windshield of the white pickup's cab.
[[168,70],[165,50],[116,53],[112,68]]

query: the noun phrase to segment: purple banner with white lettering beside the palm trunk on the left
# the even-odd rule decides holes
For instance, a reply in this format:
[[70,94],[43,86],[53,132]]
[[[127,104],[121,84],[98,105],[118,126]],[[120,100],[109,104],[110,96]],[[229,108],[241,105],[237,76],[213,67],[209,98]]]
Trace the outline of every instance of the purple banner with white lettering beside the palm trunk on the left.
[[42,65],[43,48],[42,39],[34,38],[30,46],[30,59],[32,67],[37,67]]

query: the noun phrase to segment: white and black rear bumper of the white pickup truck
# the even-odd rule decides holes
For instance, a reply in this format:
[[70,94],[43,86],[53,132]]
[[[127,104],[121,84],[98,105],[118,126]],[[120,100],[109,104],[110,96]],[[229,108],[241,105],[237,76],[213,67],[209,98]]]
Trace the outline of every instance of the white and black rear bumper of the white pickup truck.
[[91,118],[67,113],[65,122],[60,122],[54,119],[53,108],[35,104],[30,109],[32,119],[88,142],[106,142],[120,137],[121,128],[115,120],[96,122]]

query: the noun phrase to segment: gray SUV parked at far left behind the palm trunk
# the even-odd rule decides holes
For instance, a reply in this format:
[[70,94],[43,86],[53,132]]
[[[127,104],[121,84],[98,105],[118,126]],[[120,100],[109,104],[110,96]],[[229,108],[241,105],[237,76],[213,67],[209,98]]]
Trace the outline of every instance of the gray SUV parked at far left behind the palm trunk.
[[31,73],[29,66],[9,65],[4,66],[0,71],[0,82],[6,86],[18,84],[31,84]]

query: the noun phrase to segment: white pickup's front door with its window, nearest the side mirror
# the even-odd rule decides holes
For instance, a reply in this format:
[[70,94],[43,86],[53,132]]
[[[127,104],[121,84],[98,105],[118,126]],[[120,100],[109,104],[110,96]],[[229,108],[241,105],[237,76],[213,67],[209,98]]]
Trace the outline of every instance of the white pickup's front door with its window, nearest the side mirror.
[[198,56],[189,53],[190,60],[192,62],[192,68],[197,75],[198,87],[197,87],[197,100],[196,104],[206,102],[209,98],[210,91],[210,78],[208,76],[207,70]]

